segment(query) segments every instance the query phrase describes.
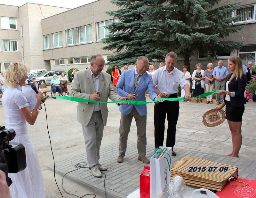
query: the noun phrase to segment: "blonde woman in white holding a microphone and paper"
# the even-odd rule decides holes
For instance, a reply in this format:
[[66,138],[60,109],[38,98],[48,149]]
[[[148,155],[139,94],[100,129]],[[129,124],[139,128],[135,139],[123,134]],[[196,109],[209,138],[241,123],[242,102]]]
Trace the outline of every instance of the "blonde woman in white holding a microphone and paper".
[[[36,155],[36,151],[28,137],[28,124],[33,125],[39,114],[39,107],[43,99],[40,90],[36,97],[36,106],[30,112],[28,100],[21,92],[21,86],[25,84],[29,69],[26,65],[11,63],[6,71],[5,85],[8,87],[3,94],[2,104],[6,117],[6,128],[13,128],[16,136],[13,142],[22,143],[26,151],[27,167],[17,173],[9,173],[12,179],[10,186],[12,198],[44,198],[44,182]],[[31,133],[36,131],[31,131]]]

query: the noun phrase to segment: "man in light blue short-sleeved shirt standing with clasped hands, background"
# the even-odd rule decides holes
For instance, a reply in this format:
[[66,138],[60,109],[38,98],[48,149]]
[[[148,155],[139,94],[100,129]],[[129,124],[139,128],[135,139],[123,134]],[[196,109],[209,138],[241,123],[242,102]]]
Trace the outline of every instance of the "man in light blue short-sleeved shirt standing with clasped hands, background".
[[[223,67],[223,61],[218,62],[217,67],[214,68],[212,75],[215,79],[215,89],[224,90],[225,89],[225,79],[228,77],[228,70]],[[216,104],[219,105],[224,99],[224,94],[216,94]]]

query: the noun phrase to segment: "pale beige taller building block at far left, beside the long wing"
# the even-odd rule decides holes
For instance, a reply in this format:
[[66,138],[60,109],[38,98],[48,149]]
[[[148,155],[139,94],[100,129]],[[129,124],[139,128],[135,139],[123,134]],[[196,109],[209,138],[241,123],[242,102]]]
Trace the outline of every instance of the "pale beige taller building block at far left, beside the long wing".
[[69,9],[27,3],[20,7],[0,4],[0,10],[0,70],[16,61],[31,70],[50,70],[43,58],[42,19]]

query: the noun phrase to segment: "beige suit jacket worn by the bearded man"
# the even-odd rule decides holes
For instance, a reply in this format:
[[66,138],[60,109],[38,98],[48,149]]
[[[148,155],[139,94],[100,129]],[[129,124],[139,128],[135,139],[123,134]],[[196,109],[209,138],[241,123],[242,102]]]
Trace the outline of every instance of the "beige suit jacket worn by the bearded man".
[[[89,99],[90,94],[95,93],[95,88],[92,80],[91,72],[88,69],[77,71],[72,81],[70,96],[76,98]],[[106,72],[101,72],[99,77],[99,92],[101,101],[117,101],[120,96],[112,89],[111,77]],[[77,121],[82,125],[87,126],[94,108],[92,102],[78,102],[77,108]],[[108,107],[107,103],[100,103],[100,111],[104,126],[107,124]]]

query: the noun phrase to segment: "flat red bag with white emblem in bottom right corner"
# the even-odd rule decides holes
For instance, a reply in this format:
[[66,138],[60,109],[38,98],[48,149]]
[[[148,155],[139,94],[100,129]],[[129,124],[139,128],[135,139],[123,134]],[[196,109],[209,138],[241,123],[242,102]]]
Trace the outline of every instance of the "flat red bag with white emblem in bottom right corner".
[[[239,178],[240,181],[249,184],[249,186],[238,187],[226,185],[222,191],[218,191],[216,195],[220,198],[256,198],[256,180],[247,180]],[[230,180],[227,184],[241,185],[241,182]]]

